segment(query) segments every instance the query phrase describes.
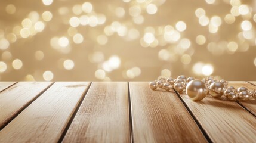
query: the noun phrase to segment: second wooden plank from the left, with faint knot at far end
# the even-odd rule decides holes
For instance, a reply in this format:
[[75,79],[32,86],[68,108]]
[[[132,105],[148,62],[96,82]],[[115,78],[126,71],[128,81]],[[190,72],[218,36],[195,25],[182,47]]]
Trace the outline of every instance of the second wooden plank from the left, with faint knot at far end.
[[87,87],[55,82],[0,131],[0,142],[58,142]]

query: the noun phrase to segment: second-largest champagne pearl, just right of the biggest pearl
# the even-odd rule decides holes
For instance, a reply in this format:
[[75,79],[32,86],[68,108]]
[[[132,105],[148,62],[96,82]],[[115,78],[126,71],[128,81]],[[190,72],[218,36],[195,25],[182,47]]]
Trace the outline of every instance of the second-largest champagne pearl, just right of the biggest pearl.
[[221,82],[214,82],[209,86],[209,94],[212,95],[212,97],[221,97],[224,91],[225,86]]

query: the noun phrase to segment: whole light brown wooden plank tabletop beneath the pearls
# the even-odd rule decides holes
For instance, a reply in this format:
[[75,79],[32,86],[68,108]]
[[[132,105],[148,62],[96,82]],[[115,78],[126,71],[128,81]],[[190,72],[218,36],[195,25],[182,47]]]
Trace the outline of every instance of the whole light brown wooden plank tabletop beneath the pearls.
[[256,100],[193,102],[149,82],[0,82],[0,91],[0,142],[256,142]]

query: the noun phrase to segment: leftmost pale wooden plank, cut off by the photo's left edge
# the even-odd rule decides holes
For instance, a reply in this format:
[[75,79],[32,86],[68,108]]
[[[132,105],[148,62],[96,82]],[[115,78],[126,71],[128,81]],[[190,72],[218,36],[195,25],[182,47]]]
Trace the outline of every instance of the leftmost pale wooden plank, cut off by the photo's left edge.
[[0,93],[0,130],[51,82],[18,82]]

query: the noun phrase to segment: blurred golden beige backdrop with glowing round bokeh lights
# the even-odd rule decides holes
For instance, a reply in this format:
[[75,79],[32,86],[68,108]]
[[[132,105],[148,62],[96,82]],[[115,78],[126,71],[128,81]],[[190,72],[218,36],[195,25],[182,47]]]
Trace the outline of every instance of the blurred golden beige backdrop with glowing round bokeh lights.
[[256,1],[0,2],[0,79],[256,80]]

